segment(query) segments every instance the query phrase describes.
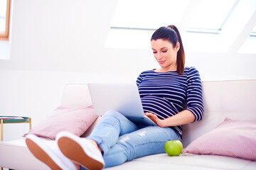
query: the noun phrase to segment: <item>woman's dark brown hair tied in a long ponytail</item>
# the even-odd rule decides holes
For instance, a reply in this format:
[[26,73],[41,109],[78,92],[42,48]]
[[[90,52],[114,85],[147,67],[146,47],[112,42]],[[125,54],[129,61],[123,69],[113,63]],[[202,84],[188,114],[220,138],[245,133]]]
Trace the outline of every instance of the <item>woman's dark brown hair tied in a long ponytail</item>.
[[185,67],[185,52],[178,28],[176,28],[174,25],[160,27],[153,33],[151,37],[151,40],[158,39],[168,40],[174,47],[176,47],[177,42],[180,43],[180,48],[177,52],[177,72],[179,75],[182,75]]

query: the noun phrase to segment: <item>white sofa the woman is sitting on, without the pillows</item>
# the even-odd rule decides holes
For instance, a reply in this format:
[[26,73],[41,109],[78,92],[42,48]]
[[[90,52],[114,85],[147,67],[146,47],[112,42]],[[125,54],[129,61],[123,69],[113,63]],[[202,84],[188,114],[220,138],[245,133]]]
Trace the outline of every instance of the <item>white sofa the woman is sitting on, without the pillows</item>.
[[[224,118],[256,120],[256,80],[205,81],[203,82],[205,114],[203,120],[183,126],[183,146],[215,128]],[[86,84],[68,84],[63,91],[62,105],[90,104]],[[97,119],[86,136],[97,124]],[[53,141],[46,142],[52,143]],[[255,144],[256,147],[256,144]],[[0,166],[9,169],[45,170],[48,166],[39,162],[28,151],[24,139],[0,142]],[[134,159],[109,169],[256,169],[256,162],[217,155],[181,154],[169,157],[156,154]]]

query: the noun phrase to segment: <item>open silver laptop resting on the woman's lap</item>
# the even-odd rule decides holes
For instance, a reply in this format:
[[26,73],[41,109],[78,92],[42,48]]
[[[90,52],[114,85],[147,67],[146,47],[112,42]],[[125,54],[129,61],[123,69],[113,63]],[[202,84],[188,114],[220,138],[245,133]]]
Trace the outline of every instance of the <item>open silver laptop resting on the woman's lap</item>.
[[95,114],[117,111],[134,123],[156,125],[144,115],[137,84],[90,83],[88,88]]

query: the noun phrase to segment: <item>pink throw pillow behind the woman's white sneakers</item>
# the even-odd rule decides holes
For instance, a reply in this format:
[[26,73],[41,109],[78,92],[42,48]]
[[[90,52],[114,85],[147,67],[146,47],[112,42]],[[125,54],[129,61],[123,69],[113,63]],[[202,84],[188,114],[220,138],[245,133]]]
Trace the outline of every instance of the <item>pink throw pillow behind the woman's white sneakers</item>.
[[92,125],[98,115],[92,106],[59,106],[45,120],[32,128],[28,134],[47,137],[55,140],[58,132],[68,131],[75,135],[82,135]]

